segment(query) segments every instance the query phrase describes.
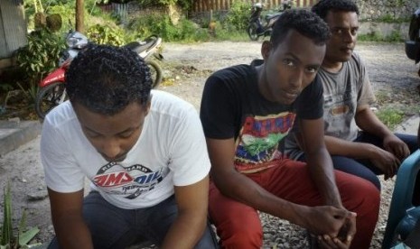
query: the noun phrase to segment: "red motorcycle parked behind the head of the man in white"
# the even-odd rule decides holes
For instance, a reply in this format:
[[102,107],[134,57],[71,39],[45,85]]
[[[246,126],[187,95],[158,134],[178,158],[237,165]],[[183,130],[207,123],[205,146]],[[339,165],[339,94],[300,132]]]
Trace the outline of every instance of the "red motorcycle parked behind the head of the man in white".
[[[82,51],[89,44],[88,38],[80,32],[69,31],[66,37],[66,44],[68,49],[61,52],[59,59],[59,68],[53,70],[45,78],[42,78],[39,86],[40,91],[35,99],[35,111],[41,118],[45,118],[48,112],[55,106],[60,105],[67,100],[67,93],[65,88],[65,72],[70,66],[71,60],[76,58],[79,51]],[[162,81],[162,69],[159,64],[152,58],[162,60],[163,56],[159,53],[159,48],[162,44],[162,38],[152,35],[147,37],[144,41],[129,42],[124,45],[126,48],[135,51],[142,57],[150,68],[152,78],[154,79],[152,88],[157,86]]]

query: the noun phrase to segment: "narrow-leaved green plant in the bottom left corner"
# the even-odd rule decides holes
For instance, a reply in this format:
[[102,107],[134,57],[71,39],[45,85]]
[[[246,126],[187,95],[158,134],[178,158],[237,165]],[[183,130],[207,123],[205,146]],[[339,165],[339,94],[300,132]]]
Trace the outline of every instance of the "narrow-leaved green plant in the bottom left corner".
[[35,235],[40,232],[38,227],[29,227],[26,229],[26,211],[23,209],[22,217],[17,226],[17,235],[14,235],[13,229],[13,211],[12,211],[12,192],[10,190],[10,183],[7,183],[4,189],[4,210],[3,210],[3,226],[1,227],[0,248],[1,249],[17,249],[29,245],[28,244]]

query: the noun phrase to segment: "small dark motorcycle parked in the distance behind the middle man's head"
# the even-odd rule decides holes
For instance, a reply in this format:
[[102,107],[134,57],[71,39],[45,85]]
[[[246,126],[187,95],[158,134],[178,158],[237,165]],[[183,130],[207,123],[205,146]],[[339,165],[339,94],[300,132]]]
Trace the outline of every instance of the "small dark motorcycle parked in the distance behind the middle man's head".
[[260,36],[270,36],[277,18],[286,9],[292,8],[292,5],[285,3],[283,4],[283,9],[279,8],[275,14],[266,14],[263,19],[261,18],[263,6],[261,3],[257,3],[251,8],[251,17],[247,25],[247,35],[252,41],[257,41]]

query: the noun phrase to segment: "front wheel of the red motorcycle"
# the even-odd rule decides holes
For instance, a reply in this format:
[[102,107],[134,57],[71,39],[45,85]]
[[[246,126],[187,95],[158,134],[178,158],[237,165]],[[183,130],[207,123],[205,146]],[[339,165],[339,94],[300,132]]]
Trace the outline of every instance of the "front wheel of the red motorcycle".
[[44,119],[52,108],[67,100],[66,88],[63,82],[54,82],[41,88],[35,99],[35,111],[40,119]]

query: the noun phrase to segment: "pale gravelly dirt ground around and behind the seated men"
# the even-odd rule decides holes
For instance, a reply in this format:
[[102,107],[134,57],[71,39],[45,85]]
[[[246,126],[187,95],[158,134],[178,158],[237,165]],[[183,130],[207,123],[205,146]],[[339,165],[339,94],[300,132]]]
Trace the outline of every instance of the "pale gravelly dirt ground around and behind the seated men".
[[[238,63],[249,63],[260,58],[261,42],[205,42],[197,44],[163,43],[163,77],[159,87],[200,106],[205,79],[216,69]],[[365,60],[375,92],[380,96],[378,108],[387,105],[406,106],[406,116],[418,114],[418,65],[406,58],[404,44],[359,43],[356,51]],[[23,208],[27,210],[27,225],[41,229],[36,242],[45,243],[51,239],[49,200],[43,181],[42,165],[39,159],[39,140],[26,143],[14,152],[0,158],[0,188],[7,182],[12,186],[14,222],[17,224]],[[383,182],[380,219],[371,248],[380,248],[385,231],[387,209],[392,194],[393,180]],[[3,199],[3,193],[0,194]],[[3,217],[3,201],[0,211]],[[270,227],[274,217],[266,217],[265,247],[298,247],[285,242],[284,230],[273,232]],[[0,218],[0,221],[2,218]],[[275,225],[278,227],[278,225]],[[275,228],[277,229],[277,228]],[[294,231],[287,228],[286,231]],[[271,232],[270,232],[271,231]],[[296,236],[302,236],[299,235]]]

